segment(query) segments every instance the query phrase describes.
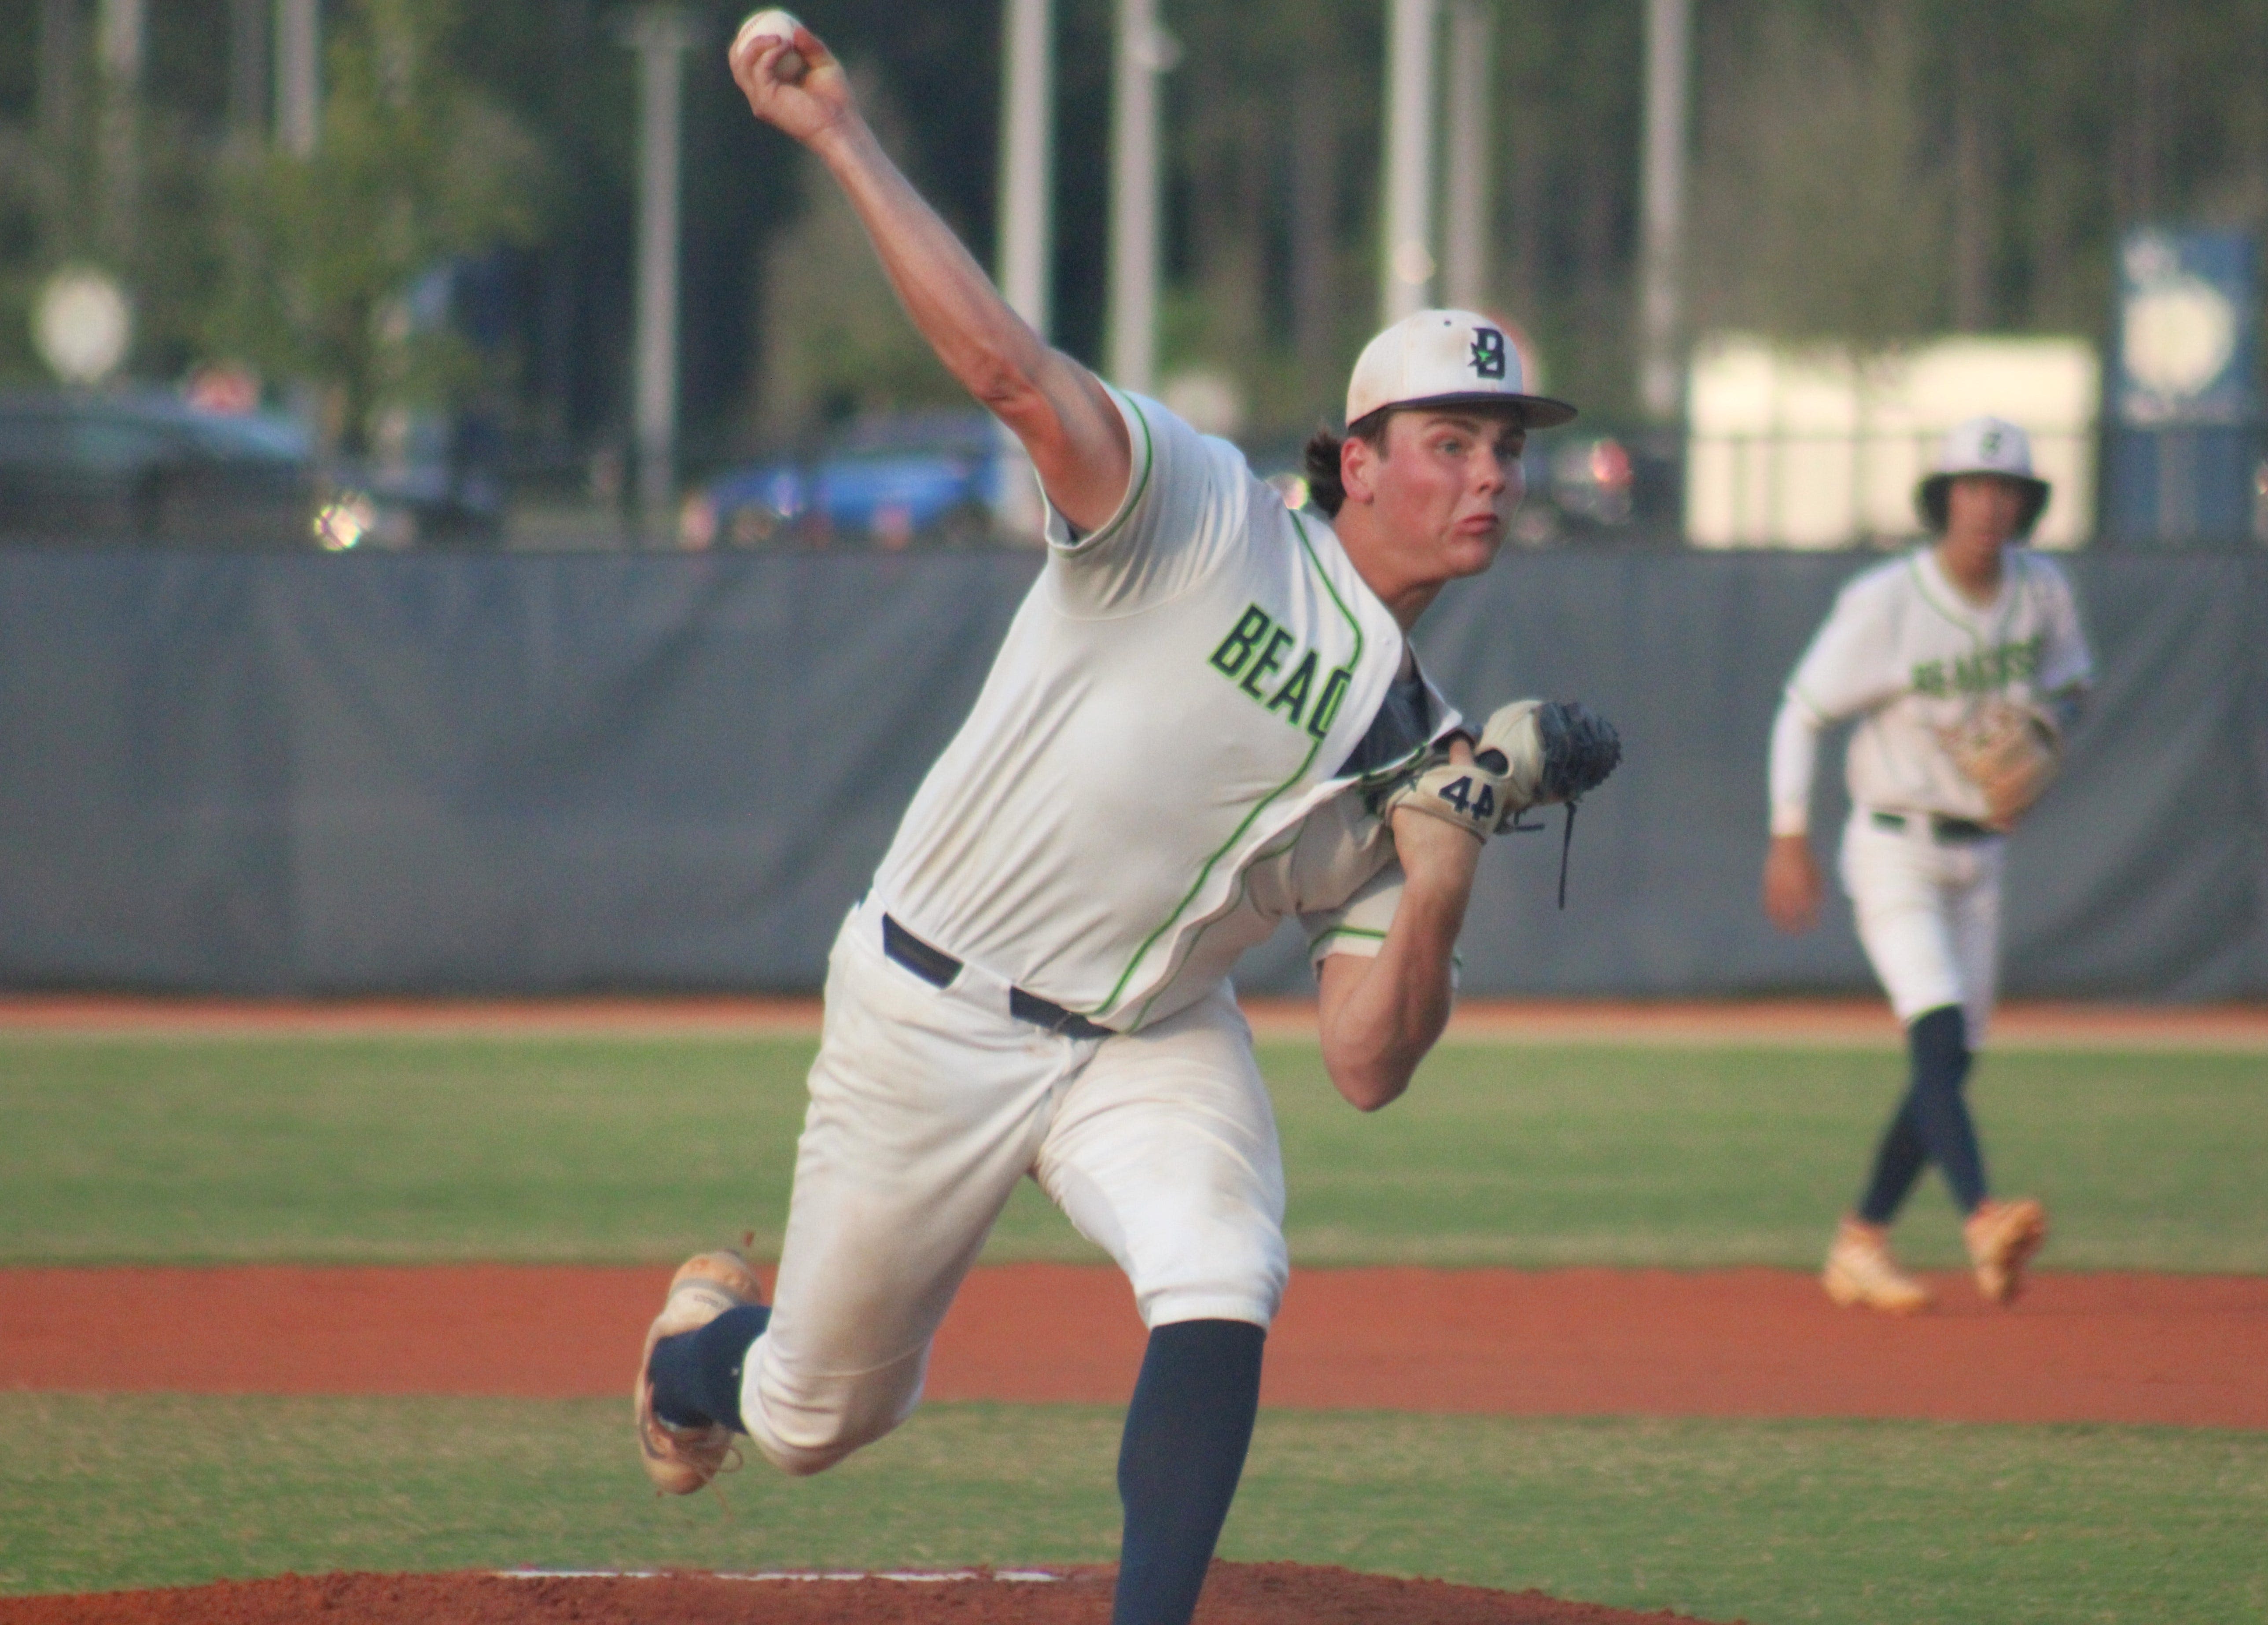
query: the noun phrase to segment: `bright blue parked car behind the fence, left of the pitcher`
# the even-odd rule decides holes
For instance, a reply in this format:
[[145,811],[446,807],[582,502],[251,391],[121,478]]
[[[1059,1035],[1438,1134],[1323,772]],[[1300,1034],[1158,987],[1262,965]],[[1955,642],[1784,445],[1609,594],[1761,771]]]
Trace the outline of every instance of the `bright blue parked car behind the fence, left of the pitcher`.
[[687,497],[685,547],[968,547],[991,538],[1009,463],[987,413],[866,418],[814,456],[735,470]]

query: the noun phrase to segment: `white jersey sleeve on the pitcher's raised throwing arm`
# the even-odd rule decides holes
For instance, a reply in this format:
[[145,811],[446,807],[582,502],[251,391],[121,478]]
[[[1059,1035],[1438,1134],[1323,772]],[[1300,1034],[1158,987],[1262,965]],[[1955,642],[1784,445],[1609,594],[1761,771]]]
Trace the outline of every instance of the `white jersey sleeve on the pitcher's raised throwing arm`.
[[1109,395],[1134,454],[1118,513],[1077,536],[1048,504],[1048,567],[1077,615],[1123,615],[1182,592],[1243,536],[1254,483],[1227,440],[1141,395]]

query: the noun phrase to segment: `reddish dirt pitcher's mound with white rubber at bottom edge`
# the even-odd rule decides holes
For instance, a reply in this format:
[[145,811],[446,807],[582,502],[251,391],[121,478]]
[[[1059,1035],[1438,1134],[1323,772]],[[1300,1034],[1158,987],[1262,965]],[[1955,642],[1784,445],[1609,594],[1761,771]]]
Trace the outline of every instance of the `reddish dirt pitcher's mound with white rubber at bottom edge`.
[[[0,1598],[0,1625],[1107,1625],[1114,1568],[903,1575],[284,1575]],[[1198,1625],[1687,1620],[1304,1564],[1213,1564]]]

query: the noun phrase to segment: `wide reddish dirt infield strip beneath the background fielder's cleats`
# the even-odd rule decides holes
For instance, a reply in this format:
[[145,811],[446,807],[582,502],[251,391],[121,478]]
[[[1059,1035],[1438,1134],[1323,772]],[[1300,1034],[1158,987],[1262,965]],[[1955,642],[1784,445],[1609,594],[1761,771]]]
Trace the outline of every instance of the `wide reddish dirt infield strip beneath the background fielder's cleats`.
[[[0,1387],[615,1396],[667,1271],[0,1271]],[[1513,1416],[1916,1416],[2268,1428],[2268,1278],[2041,1273],[2014,1310],[1937,1278],[1914,1319],[1801,1273],[1300,1271],[1266,1405]],[[1123,1405],[1143,1328],[1107,1266],[980,1269],[930,1398]]]

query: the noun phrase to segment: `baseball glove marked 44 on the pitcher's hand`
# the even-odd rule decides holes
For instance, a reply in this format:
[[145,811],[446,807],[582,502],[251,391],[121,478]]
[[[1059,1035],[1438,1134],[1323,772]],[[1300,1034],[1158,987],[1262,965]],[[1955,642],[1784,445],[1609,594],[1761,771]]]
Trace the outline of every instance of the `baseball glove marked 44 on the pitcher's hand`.
[[1470,763],[1449,760],[1445,740],[1386,790],[1379,817],[1393,822],[1408,808],[1488,840],[1529,808],[1574,801],[1622,760],[1622,740],[1606,717],[1556,699],[1515,699],[1490,715],[1481,738],[1463,738],[1472,744]]

